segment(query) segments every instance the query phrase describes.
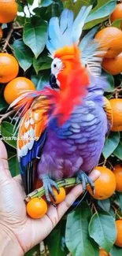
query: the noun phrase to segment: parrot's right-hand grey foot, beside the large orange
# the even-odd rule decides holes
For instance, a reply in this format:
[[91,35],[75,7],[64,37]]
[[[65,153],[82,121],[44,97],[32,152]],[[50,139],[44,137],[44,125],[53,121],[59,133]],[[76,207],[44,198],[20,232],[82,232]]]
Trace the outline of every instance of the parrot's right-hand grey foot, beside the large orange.
[[76,183],[78,183],[79,181],[82,182],[83,191],[86,190],[87,184],[90,184],[92,192],[93,192],[93,195],[94,195],[94,183],[91,180],[91,178],[88,177],[87,174],[84,173],[83,171],[79,171],[79,173],[76,176]]

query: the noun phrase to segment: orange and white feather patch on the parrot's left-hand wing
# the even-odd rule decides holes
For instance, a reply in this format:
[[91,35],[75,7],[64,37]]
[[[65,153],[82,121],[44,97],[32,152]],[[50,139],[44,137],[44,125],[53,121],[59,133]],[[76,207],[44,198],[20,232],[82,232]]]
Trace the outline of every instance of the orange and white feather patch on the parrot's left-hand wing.
[[18,154],[20,157],[31,150],[34,142],[39,140],[46,129],[49,108],[49,100],[40,96],[24,114],[18,133]]

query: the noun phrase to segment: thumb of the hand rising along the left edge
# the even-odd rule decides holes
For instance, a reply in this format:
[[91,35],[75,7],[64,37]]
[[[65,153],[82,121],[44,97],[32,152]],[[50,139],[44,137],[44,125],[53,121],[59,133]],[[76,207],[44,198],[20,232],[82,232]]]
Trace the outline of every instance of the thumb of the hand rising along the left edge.
[[8,178],[11,178],[11,174],[9,172],[9,165],[8,165],[8,156],[6,152],[6,147],[2,143],[2,140],[0,139],[0,183],[2,183],[4,180],[8,180]]

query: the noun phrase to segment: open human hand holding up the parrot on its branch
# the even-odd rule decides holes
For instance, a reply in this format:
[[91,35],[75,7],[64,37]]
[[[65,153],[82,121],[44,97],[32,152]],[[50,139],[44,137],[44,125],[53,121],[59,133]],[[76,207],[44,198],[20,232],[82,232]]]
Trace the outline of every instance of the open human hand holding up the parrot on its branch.
[[[91,179],[97,180],[100,173],[91,172]],[[25,193],[20,176],[12,178],[9,172],[6,148],[0,140],[0,239],[2,256],[24,255],[28,250],[46,238],[76,198],[83,192],[79,184],[69,192],[65,201],[57,208],[49,206],[46,215],[38,220],[26,213]]]

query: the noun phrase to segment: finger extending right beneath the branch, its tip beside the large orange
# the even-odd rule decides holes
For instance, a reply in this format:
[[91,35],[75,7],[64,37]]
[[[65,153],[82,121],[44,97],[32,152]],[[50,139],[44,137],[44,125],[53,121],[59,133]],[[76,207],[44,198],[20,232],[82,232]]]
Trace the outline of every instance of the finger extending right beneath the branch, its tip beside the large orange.
[[[98,180],[99,176],[100,176],[100,172],[98,170],[93,170],[90,174],[90,178],[93,181]],[[59,220],[68,210],[68,208],[72,206],[73,202],[76,201],[76,198],[78,198],[79,195],[81,195],[82,193],[83,193],[82,184],[79,184],[76,187],[72,188],[72,191],[69,192],[65,200],[57,206],[57,213],[58,213]]]

